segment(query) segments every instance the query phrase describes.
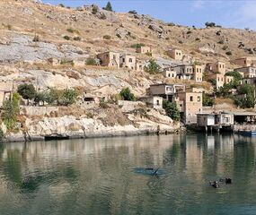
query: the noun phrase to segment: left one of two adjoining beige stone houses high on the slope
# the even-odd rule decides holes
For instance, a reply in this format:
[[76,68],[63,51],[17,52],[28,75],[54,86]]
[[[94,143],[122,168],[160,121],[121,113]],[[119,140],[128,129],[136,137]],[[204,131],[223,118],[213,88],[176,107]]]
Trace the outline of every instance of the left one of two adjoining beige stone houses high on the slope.
[[119,53],[116,52],[104,52],[102,54],[97,55],[97,57],[100,59],[100,64],[102,66],[109,66],[109,67],[115,67],[119,68]]

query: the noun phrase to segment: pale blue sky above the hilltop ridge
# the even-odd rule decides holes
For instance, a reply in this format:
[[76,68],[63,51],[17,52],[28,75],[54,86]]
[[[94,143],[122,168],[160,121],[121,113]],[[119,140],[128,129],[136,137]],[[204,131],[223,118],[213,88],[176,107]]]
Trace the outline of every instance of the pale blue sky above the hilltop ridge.
[[[42,0],[45,4],[81,6],[98,4],[105,0]],[[164,22],[203,27],[205,22],[216,22],[226,28],[256,30],[256,0],[110,0],[116,12],[136,10],[150,14]]]

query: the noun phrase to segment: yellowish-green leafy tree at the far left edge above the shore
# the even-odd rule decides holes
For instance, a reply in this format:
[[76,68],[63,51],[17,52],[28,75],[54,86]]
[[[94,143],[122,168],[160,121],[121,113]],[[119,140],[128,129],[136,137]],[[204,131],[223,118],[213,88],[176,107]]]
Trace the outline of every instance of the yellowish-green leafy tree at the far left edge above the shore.
[[20,99],[18,93],[13,93],[13,99],[4,101],[1,118],[7,129],[13,129],[16,125],[17,116],[20,113]]

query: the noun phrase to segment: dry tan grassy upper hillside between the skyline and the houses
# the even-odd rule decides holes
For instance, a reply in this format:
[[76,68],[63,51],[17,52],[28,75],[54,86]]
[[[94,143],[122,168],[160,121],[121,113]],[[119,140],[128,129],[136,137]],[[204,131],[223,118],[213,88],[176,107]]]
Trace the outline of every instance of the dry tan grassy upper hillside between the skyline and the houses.
[[[162,38],[159,39],[159,33],[148,29],[148,24],[138,25],[145,22],[146,18],[139,17],[135,19],[134,15],[129,13],[111,13],[114,22],[101,20],[91,13],[91,9],[87,8],[83,11],[75,9],[67,9],[59,6],[50,6],[46,4],[37,4],[28,0],[1,0],[0,1],[0,20],[4,25],[1,26],[2,38],[4,35],[10,36],[13,33],[34,34],[36,30],[40,35],[40,39],[50,41],[56,44],[72,43],[75,46],[82,47],[84,50],[95,51],[116,50],[133,52],[130,45],[143,42],[154,47],[154,52],[160,55],[168,47],[179,47],[185,53],[195,56],[198,60],[207,62],[213,59],[228,60],[225,55],[226,51],[231,51],[233,57],[249,55],[243,49],[238,48],[239,42],[243,42],[245,47],[256,47],[256,33],[247,30],[236,29],[191,29],[191,33],[187,34],[187,27],[169,27],[160,21],[153,20],[157,26],[163,26]],[[76,20],[76,21],[75,21]],[[148,21],[148,20],[147,20]],[[152,23],[151,22],[151,23]],[[12,25],[12,30],[6,28],[6,24]],[[150,23],[149,23],[150,24]],[[128,30],[132,36],[128,39],[119,39],[116,37],[116,29]],[[79,30],[80,37],[83,41],[66,41],[62,37],[69,35],[74,37],[75,33],[69,33],[67,28]],[[220,36],[216,35],[216,31],[221,30]],[[110,40],[102,39],[103,35],[110,35]],[[0,38],[0,39],[1,39]],[[199,40],[196,40],[199,38]],[[179,43],[182,41],[182,44]],[[224,40],[224,44],[218,44],[218,41]],[[226,50],[222,47],[227,46]],[[216,52],[213,54],[202,54],[199,52],[200,47],[212,48]]]

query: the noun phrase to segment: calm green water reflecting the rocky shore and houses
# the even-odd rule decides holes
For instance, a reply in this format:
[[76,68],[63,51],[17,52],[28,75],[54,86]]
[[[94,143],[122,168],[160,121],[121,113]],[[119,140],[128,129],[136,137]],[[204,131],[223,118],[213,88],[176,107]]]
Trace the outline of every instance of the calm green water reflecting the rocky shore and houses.
[[256,138],[236,135],[2,144],[0,214],[256,214],[255,154]]

